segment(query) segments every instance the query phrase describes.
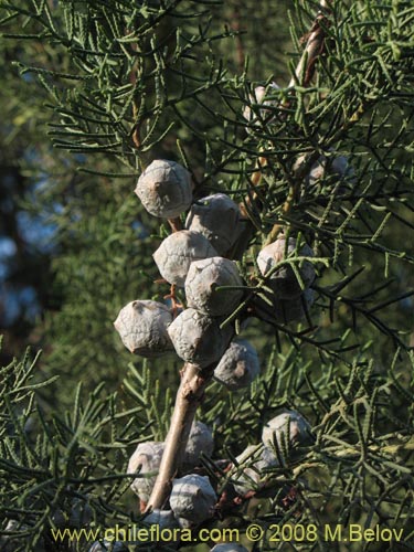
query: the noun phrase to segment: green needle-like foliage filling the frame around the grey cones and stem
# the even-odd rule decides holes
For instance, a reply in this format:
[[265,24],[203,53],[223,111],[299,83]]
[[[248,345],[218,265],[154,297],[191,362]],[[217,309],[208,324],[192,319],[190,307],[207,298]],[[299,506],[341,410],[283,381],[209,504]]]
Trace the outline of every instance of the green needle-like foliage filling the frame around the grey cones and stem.
[[[200,418],[214,428],[215,460],[258,443],[286,406],[307,415],[317,442],[270,474],[272,492],[212,523],[380,523],[404,528],[401,550],[412,549],[414,10],[335,2],[316,76],[291,94],[318,6],[289,7],[0,2],[1,274],[9,302],[20,291],[15,315],[6,299],[1,311],[0,512],[1,530],[18,521],[22,550],[54,550],[53,514],[68,517],[76,500],[93,526],[139,520],[126,464],[168,429],[178,360],[131,361],[112,325],[129,300],[169,293],[151,258],[169,230],[140,206],[136,178],[152,158],[176,159],[199,198],[226,190],[242,202],[258,152],[267,166],[242,261],[252,287],[263,290],[254,258],[275,224],[302,233],[327,266],[317,264],[310,320],[252,321],[259,380],[236,396],[213,383]],[[243,106],[273,79],[276,105],[256,109],[246,132]],[[322,152],[346,156],[351,172],[314,185],[295,177],[299,155],[309,169]],[[26,343],[42,357],[12,360]],[[286,485],[296,493],[287,506]]]

